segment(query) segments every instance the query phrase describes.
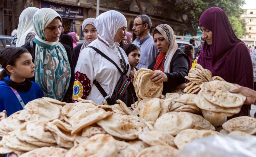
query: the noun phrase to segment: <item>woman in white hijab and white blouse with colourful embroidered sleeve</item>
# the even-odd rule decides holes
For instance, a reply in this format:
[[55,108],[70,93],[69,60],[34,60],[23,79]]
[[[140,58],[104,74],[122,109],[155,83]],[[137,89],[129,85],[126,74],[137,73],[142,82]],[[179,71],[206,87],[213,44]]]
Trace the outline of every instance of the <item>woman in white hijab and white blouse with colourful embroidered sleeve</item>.
[[[127,21],[123,14],[117,11],[102,13],[95,19],[95,27],[99,33],[98,39],[92,41],[89,46],[93,46],[111,58],[116,65],[123,70],[122,55],[124,61],[129,64],[128,58],[123,49],[118,51],[119,42],[125,35]],[[130,67],[127,76],[130,74]],[[109,97],[114,92],[116,84],[121,77],[121,73],[107,59],[102,57],[92,48],[84,48],[78,58],[75,68],[75,82],[73,86],[73,99],[78,98],[92,100],[99,105],[107,105],[106,99],[93,84],[97,80]]]

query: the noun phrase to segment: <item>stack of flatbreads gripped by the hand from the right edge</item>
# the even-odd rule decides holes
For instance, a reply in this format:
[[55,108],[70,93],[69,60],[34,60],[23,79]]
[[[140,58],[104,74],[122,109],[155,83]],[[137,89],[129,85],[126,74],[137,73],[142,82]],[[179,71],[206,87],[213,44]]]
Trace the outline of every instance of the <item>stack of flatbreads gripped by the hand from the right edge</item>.
[[194,102],[213,126],[222,125],[227,116],[239,113],[246,98],[242,94],[229,92],[237,87],[225,81],[205,82],[200,88]]

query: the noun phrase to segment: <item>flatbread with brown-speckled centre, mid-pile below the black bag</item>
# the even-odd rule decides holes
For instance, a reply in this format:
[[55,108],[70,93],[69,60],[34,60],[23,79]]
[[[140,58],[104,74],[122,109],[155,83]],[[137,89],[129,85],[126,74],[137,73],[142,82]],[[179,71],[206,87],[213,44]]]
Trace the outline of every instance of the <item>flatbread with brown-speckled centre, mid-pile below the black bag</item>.
[[97,122],[97,124],[112,136],[123,139],[136,139],[146,127],[144,121],[136,116],[112,114]]

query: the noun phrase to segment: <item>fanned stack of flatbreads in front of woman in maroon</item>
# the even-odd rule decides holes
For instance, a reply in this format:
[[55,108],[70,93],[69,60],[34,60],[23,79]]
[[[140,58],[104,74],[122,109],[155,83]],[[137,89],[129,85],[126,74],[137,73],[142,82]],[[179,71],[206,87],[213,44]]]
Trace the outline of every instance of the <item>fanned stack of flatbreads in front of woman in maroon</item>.
[[200,90],[200,85],[204,82],[220,80],[224,81],[219,76],[212,77],[212,73],[208,69],[204,69],[200,64],[196,64],[195,68],[191,68],[188,72],[188,76],[185,76],[189,80],[184,89],[185,93],[196,93]]

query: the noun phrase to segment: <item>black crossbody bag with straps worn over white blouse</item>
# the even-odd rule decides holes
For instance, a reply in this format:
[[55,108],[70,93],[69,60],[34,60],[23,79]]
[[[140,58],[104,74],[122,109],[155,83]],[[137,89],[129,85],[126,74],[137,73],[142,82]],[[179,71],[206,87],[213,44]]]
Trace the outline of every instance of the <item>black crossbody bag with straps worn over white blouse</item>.
[[124,71],[122,71],[112,59],[110,59],[107,55],[102,53],[97,48],[95,48],[93,46],[87,46],[87,47],[92,48],[97,53],[99,53],[102,57],[104,57],[105,59],[110,61],[114,66],[116,66],[118,71],[121,73],[121,77],[119,78],[119,80],[116,84],[115,90],[114,90],[111,97],[108,96],[106,91],[101,87],[100,83],[97,80],[93,80],[93,84],[95,84],[95,86],[98,88],[98,90],[100,91],[102,96],[106,99],[108,105],[114,105],[114,104],[116,104],[116,100],[120,99],[128,107],[130,107],[134,102],[136,102],[138,100],[138,98],[136,96],[134,86],[133,86],[131,80],[126,75],[128,70],[129,70],[130,65],[129,64],[126,65],[125,60],[124,60],[124,56],[123,56],[122,52],[120,51],[119,47],[118,47],[118,51],[119,51],[119,53],[120,53],[120,55],[123,59],[124,66],[125,66]]

